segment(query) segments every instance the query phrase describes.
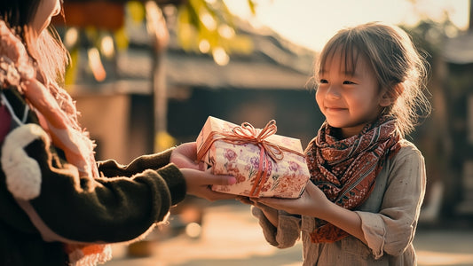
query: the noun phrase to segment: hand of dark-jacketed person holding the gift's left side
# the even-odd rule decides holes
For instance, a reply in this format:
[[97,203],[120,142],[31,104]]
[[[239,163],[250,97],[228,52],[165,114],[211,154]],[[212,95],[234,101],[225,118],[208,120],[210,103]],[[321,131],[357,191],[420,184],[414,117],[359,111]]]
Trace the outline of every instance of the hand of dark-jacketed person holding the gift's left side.
[[235,199],[236,195],[214,192],[210,189],[212,184],[235,184],[233,176],[213,175],[209,171],[201,171],[191,168],[180,168],[187,184],[187,193],[194,196],[214,201]]

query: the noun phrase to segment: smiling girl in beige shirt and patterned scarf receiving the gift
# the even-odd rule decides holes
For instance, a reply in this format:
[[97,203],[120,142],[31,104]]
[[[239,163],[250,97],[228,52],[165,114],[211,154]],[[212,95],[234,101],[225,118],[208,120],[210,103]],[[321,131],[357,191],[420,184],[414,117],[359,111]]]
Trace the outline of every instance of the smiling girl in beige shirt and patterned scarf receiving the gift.
[[341,30],[319,55],[316,100],[326,121],[305,150],[311,182],[297,200],[251,203],[265,239],[293,246],[304,265],[415,265],[413,239],[425,192],[422,154],[404,138],[426,68],[398,27]]

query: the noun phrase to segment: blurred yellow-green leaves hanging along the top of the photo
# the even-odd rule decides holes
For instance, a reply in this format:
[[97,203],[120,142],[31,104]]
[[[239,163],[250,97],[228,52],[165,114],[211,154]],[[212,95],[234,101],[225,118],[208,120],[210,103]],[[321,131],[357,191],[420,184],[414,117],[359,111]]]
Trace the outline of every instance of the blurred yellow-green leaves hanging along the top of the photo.
[[[249,54],[253,43],[247,35],[237,34],[238,25],[235,17],[226,6],[224,0],[188,0],[179,2],[177,9],[176,35],[179,45],[185,51],[208,53],[218,65],[225,65],[230,60],[230,54]],[[249,10],[256,14],[256,1],[248,0]],[[72,64],[67,69],[66,83],[76,82],[80,53],[94,49],[99,56],[94,57],[95,65],[89,66],[91,73],[96,76],[103,69],[102,63],[110,59],[110,54],[128,49],[130,30],[146,27],[146,5],[143,1],[127,1],[125,7],[125,25],[114,31],[99,27],[66,27],[63,28],[63,39],[71,53]],[[163,6],[160,6],[163,8]],[[132,24],[132,25],[130,25]],[[130,29],[131,28],[131,29]],[[67,37],[74,36],[74,37]],[[104,38],[113,43],[104,49]],[[85,43],[85,44],[84,44]],[[81,47],[86,46],[86,47]],[[91,53],[94,54],[94,53]],[[91,61],[90,55],[88,58]],[[85,63],[85,62],[82,62]],[[89,62],[90,64],[91,62]],[[97,76],[96,76],[97,78]],[[101,80],[97,80],[101,82]]]

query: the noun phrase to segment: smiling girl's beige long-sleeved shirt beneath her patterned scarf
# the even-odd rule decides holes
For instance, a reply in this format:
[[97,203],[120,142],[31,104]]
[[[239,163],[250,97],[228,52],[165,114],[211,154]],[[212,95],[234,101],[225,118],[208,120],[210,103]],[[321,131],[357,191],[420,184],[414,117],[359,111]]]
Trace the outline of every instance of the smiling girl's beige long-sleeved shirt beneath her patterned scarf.
[[401,145],[376,176],[367,201],[355,210],[367,245],[352,236],[314,244],[310,236],[314,218],[280,211],[275,228],[260,209],[253,207],[264,238],[273,246],[285,248],[294,246],[302,233],[304,265],[416,265],[413,239],[425,193],[425,165],[412,143],[402,140]]

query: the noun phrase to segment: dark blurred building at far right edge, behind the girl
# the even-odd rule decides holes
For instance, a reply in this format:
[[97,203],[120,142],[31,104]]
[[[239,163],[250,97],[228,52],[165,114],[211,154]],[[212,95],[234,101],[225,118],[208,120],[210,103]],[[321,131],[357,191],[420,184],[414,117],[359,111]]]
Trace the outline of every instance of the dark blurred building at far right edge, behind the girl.
[[445,43],[445,97],[451,141],[448,163],[453,212],[473,217],[473,28]]

